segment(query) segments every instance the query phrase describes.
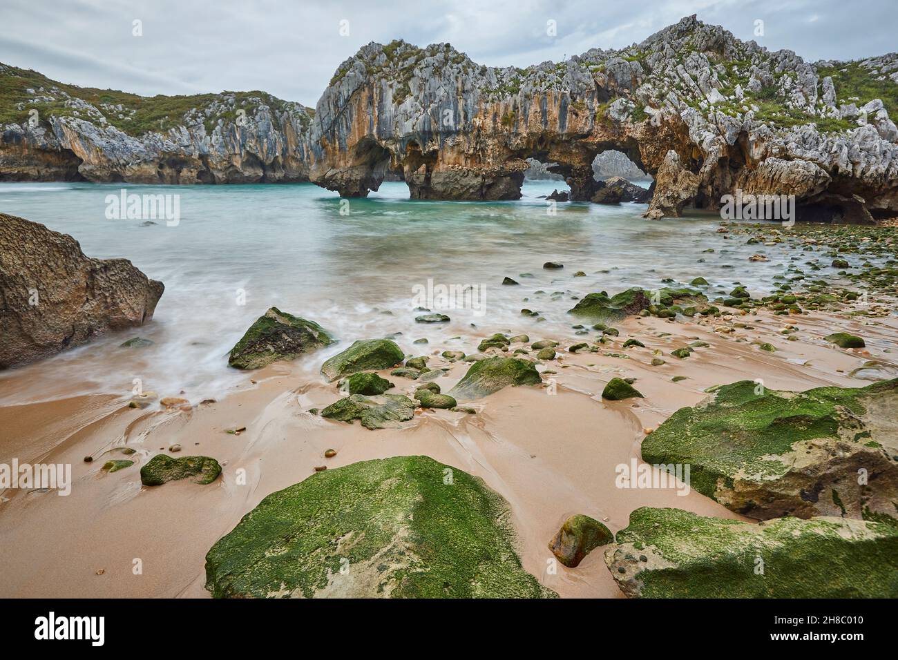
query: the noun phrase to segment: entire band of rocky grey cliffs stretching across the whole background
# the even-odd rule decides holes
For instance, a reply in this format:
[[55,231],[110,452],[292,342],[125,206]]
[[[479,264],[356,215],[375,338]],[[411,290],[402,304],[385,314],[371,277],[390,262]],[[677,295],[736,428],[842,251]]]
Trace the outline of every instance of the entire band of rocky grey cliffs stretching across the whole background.
[[343,197],[389,179],[411,198],[490,200],[519,198],[535,161],[570,199],[608,203],[594,161],[611,151],[631,164],[612,175],[656,179],[649,217],[717,210],[738,189],[795,195],[799,220],[872,224],[898,214],[896,76],[895,54],[810,63],[695,16],[526,68],[370,43],[314,111],[264,92],[145,98],[0,66],[0,178],[311,179]]

